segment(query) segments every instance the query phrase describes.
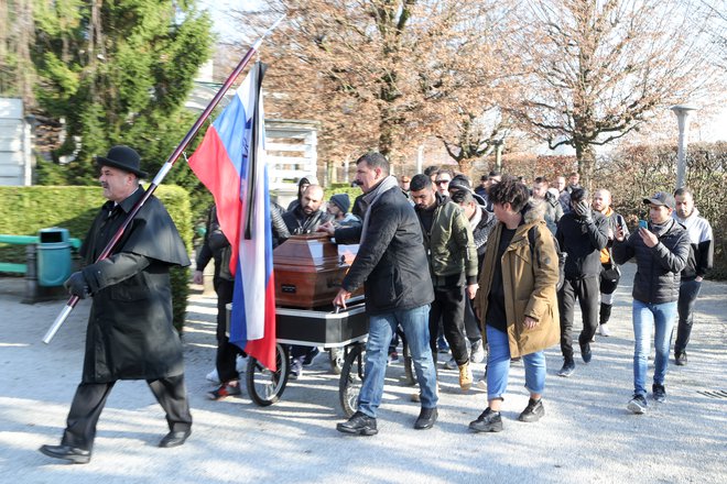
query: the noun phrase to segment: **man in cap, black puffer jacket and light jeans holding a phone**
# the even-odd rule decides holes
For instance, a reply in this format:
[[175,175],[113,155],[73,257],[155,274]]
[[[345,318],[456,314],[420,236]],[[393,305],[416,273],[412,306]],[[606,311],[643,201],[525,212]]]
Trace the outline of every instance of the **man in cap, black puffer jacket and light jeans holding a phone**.
[[669,366],[669,349],[676,317],[680,276],[690,255],[690,237],[684,227],[672,218],[674,197],[659,191],[644,198],[649,205],[648,228],[639,229],[628,239],[621,228],[616,231],[614,260],[625,264],[636,256],[633,277],[633,397],[627,408],[633,414],[647,410],[647,370],[654,332],[654,402],[666,399],[664,378]]

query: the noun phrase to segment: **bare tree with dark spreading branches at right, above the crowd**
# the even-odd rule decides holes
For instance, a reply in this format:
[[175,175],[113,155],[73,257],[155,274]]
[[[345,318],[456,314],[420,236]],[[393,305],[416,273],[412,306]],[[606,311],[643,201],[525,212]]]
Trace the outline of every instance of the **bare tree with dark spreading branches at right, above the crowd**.
[[573,146],[588,185],[595,146],[720,82],[695,14],[691,0],[529,0],[517,40],[525,95],[512,112],[551,148]]

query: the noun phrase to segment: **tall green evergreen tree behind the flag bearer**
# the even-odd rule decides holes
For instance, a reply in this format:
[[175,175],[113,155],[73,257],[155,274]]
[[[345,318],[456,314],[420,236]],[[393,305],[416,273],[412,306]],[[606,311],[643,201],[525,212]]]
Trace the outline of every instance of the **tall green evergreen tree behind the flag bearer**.
[[[93,157],[134,147],[151,175],[192,125],[184,103],[209,57],[210,20],[194,0],[37,0],[33,61],[45,114],[65,119],[56,155],[67,183],[93,184]],[[187,178],[186,168],[167,182]]]

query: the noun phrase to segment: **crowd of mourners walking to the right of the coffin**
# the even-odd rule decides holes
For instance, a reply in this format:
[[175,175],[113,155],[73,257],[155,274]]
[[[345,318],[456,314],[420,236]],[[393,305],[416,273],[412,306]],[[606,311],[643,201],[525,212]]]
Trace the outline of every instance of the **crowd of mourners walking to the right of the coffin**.
[[[634,414],[648,408],[647,361],[652,341],[657,356],[651,395],[654,402],[664,402],[673,327],[679,321],[674,362],[684,365],[694,304],[713,260],[712,229],[699,217],[688,188],[644,197],[648,216],[630,232],[626,219],[612,208],[610,191],[598,188],[592,195],[579,185],[577,173],[558,177],[551,188],[545,177],[536,177],[527,186],[521,177],[491,172],[473,189],[465,175],[446,168],[402,176],[397,186],[388,162],[378,154],[362,156],[357,167],[356,183],[364,189],[364,223],[347,229],[346,238],[333,224],[318,228],[336,241],[360,242],[359,255],[335,302],[344,306],[350,293],[364,285],[369,316],[377,321],[367,343],[367,377],[358,411],[337,426],[339,431],[377,432],[387,348],[398,329],[403,329],[406,342],[416,348],[413,354],[419,362],[420,392],[413,400],[421,402],[422,408],[414,428],[431,428],[436,421],[440,336],[452,353],[443,366],[459,371],[465,392],[474,380],[470,362],[478,349],[487,348],[481,382],[487,389],[487,407],[469,424],[471,430],[502,430],[500,407],[510,364],[519,360],[524,364],[530,393],[519,420],[539,420],[545,414],[543,350],[560,341],[563,365],[557,375],[575,373],[577,300],[580,360],[585,365],[593,360],[596,336],[610,336],[619,265],[631,258],[637,264],[633,393],[627,408]],[[379,202],[384,191],[388,204],[398,201],[397,210]],[[394,196],[399,200],[392,199]],[[371,219],[376,219],[373,227]],[[412,221],[419,222],[414,223],[419,231],[412,230]],[[404,242],[411,254],[412,243],[416,252],[421,244],[427,264],[415,270],[415,264],[402,258]],[[431,292],[421,288],[422,280],[430,283]],[[369,293],[369,286],[376,290]],[[408,288],[420,297],[408,298]],[[428,349],[415,340],[424,337],[428,338]],[[434,367],[434,383],[430,367]]]

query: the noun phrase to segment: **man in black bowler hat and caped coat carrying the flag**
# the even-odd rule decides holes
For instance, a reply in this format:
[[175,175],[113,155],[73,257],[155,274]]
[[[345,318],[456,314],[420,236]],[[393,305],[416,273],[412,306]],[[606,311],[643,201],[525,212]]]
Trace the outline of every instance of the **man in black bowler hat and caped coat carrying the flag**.
[[189,265],[180,233],[155,197],[128,226],[111,254],[98,256],[131,209],[144,196],[141,158],[129,146],[98,156],[99,182],[107,201],[94,220],[80,255],[85,266],[65,286],[79,298],[93,297],[83,378],[70,404],[61,446],[41,452],[85,464],[90,461],[96,424],[119,380],[145,380],[164,411],[170,432],[159,447],[176,447],[192,433],[184,384],[182,342],[172,324],[170,267]]

